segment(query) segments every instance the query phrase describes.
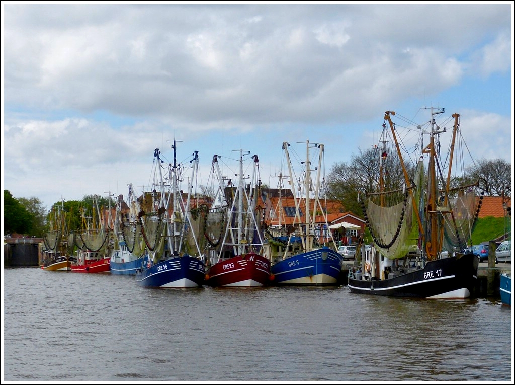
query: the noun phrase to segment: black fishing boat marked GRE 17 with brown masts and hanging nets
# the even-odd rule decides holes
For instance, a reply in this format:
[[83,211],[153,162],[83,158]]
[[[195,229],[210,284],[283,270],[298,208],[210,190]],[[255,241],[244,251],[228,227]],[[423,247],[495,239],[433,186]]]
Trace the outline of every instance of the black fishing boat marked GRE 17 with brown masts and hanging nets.
[[[427,123],[411,127],[411,120],[385,112],[376,146],[377,188],[358,194],[373,247],[365,257],[356,258],[349,270],[352,293],[442,299],[471,296],[479,259],[468,251],[467,242],[488,186],[484,180],[457,183],[466,180],[455,178],[458,170],[453,168],[456,160],[464,164],[456,155],[467,153],[461,151],[465,144],[458,140],[462,139],[460,115],[454,113],[437,125],[436,116],[443,113],[443,108],[431,108]],[[444,124],[452,124],[452,130]],[[446,151],[440,138],[449,132]],[[394,148],[387,146],[389,143]],[[413,149],[415,159],[401,148]],[[401,170],[400,186],[392,182],[399,173],[388,170],[393,168],[392,160]]]

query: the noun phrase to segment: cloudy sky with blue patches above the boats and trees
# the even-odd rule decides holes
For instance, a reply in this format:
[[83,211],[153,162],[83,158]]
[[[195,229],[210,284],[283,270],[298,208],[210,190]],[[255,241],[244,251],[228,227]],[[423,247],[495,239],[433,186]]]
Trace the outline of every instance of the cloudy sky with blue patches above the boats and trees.
[[3,189],[48,210],[140,195],[173,140],[205,186],[243,149],[277,187],[283,142],[327,174],[388,110],[458,112],[474,159],[513,163],[513,3],[2,2],[2,88]]

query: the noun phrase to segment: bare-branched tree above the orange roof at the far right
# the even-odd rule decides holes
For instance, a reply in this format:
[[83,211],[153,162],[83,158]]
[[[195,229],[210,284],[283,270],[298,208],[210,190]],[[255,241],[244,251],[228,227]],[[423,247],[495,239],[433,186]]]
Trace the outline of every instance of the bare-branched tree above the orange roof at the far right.
[[489,195],[511,195],[511,164],[504,159],[488,160],[481,158],[473,166],[467,168],[467,173],[473,179],[483,178],[488,183]]

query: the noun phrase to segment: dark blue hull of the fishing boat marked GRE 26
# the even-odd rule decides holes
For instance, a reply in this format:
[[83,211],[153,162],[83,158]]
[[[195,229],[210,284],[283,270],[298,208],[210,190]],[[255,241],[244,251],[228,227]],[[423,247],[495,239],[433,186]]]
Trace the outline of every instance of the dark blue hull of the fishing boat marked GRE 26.
[[198,288],[205,278],[204,262],[182,256],[136,270],[136,283],[145,288]]

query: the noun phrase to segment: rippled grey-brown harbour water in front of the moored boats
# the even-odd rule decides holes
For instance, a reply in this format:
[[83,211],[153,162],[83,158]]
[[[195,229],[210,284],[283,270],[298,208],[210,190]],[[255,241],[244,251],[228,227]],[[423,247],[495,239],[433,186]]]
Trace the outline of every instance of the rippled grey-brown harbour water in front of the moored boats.
[[500,298],[331,288],[156,290],[3,270],[4,381],[508,381]]

